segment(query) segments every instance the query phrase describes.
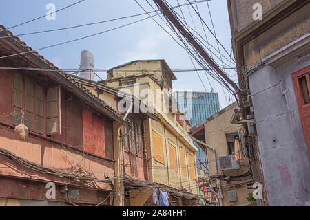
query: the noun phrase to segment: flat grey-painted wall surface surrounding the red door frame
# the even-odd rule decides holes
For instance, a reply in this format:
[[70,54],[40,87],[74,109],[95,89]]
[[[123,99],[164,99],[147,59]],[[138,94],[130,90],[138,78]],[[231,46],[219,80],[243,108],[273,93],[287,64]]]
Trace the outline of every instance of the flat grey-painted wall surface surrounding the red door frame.
[[305,206],[310,199],[309,158],[291,77],[310,65],[309,37],[300,42],[249,76],[270,206]]

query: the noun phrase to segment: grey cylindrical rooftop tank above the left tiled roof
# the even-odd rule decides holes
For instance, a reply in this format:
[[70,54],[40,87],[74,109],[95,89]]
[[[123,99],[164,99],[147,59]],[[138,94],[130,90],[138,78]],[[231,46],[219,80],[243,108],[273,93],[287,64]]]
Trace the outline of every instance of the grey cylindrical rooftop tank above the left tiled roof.
[[88,50],[83,50],[81,52],[81,70],[80,77],[87,80],[94,80],[94,54]]

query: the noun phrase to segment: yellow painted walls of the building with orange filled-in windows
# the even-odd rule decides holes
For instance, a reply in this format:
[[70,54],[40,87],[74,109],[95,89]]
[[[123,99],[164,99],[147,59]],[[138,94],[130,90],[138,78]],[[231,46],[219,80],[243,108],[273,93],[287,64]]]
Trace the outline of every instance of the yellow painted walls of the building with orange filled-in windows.
[[[141,72],[132,73],[132,72],[118,72],[117,70],[136,70],[139,69]],[[160,70],[161,62],[160,61],[151,61],[151,62],[137,62],[132,63],[130,65],[125,65],[124,67],[120,67],[117,70],[114,69],[113,78],[119,78],[124,76],[132,76],[142,75],[142,74],[152,74],[150,72],[143,72],[143,70]],[[156,78],[161,78],[161,73],[156,72]],[[152,108],[153,104],[156,104],[156,107],[160,109],[166,117],[170,120],[170,122],[165,122],[165,119],[161,117],[160,122],[156,122],[155,120],[145,120],[145,143],[147,144],[147,157],[148,157],[148,166],[149,170],[149,181],[158,182],[161,184],[166,184],[173,186],[174,188],[186,188],[187,191],[198,194],[198,186],[196,184],[196,168],[194,167],[195,159],[196,159],[196,150],[189,145],[189,142],[192,140],[188,137],[187,128],[183,128],[176,121],[176,116],[171,112],[165,113],[163,110],[165,109],[163,105],[163,91],[161,87],[149,77],[137,78],[136,85],[126,85],[119,86],[118,82],[107,82],[108,86],[117,87],[121,91],[126,91],[134,94],[140,100],[143,100],[145,96],[141,96],[141,94],[135,93],[135,89],[138,88],[138,91],[142,89],[149,89],[148,94],[151,92],[154,94],[154,100],[158,98],[159,103],[155,102],[152,104],[147,104],[148,107]],[[140,85],[139,85],[140,84]],[[156,93],[159,91],[159,93]],[[153,109],[154,110],[154,109]],[[156,111],[155,111],[156,112]],[[170,123],[170,124],[169,124]],[[176,126],[181,135],[178,134],[176,130],[171,126],[174,124]],[[159,136],[159,137],[158,137]],[[184,136],[184,137],[180,137]],[[159,139],[159,140],[158,140]],[[160,141],[161,140],[161,141]],[[180,146],[183,146],[184,157],[181,161],[180,159]],[[192,158],[187,158],[189,153],[192,155]],[[161,157],[158,161],[158,157]],[[152,167],[152,168],[151,168]],[[183,170],[183,174],[181,172]],[[189,170],[191,170],[191,174],[189,175]],[[192,179],[190,178],[192,177]]]

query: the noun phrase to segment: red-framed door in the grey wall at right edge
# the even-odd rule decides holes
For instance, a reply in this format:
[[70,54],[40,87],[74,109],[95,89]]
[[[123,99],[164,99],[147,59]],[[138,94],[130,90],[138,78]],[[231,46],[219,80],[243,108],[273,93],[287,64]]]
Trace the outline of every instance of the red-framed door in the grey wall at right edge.
[[293,85],[298,103],[300,120],[302,129],[304,130],[304,140],[308,148],[308,156],[310,159],[310,66],[301,69],[293,74]]

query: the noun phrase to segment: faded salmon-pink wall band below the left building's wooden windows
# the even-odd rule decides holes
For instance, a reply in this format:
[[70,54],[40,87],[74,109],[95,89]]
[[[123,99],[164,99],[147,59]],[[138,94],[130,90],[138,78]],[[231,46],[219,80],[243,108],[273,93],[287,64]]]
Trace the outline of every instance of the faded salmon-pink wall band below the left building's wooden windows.
[[[53,168],[61,171],[71,171],[78,168],[83,168],[94,173],[96,177],[102,177],[104,174],[109,177],[114,176],[114,162],[105,161],[92,155],[83,155],[83,152],[74,151],[68,147],[61,146],[51,141],[42,140],[41,137],[27,137],[27,142],[17,140],[13,129],[6,130],[6,126],[0,126],[0,147],[11,151],[15,155],[28,159],[30,162],[40,164],[48,168]],[[11,159],[4,155],[0,156],[0,175],[10,175],[12,177],[32,178],[41,181],[53,181],[63,184],[71,184],[68,178],[56,177],[40,173],[37,170],[29,170],[24,166],[19,165],[19,170],[16,170]],[[29,176],[30,174],[31,176]],[[106,188],[106,184],[99,184],[99,187]]]

